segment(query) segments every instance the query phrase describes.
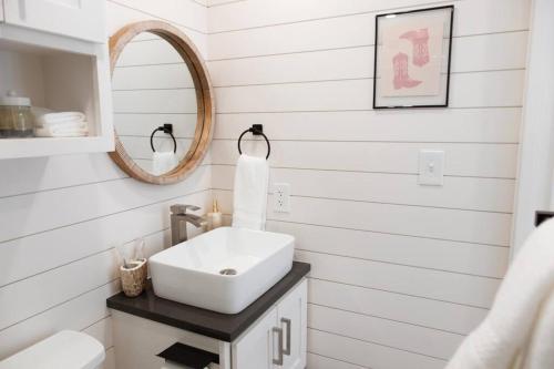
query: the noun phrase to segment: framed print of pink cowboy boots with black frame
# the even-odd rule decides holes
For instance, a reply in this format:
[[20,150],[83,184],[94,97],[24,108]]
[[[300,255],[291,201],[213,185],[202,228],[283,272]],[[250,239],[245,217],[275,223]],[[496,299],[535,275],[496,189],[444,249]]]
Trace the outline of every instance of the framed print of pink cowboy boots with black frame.
[[447,107],[454,7],[376,17],[373,109]]

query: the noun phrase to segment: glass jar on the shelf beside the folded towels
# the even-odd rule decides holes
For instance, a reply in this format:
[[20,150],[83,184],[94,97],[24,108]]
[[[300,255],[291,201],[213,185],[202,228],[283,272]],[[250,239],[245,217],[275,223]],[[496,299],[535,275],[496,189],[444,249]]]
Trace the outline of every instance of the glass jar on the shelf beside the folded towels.
[[0,137],[32,137],[33,129],[31,99],[18,96],[14,91],[0,98]]

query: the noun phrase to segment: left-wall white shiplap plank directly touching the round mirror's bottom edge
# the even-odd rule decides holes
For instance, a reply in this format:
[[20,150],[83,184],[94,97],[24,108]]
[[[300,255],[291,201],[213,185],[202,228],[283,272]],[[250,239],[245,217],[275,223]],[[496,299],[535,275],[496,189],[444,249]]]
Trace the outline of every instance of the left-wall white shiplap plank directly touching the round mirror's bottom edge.
[[201,166],[189,181],[165,191],[129,178],[2,198],[0,242],[178,198],[207,188],[209,178],[209,168]]

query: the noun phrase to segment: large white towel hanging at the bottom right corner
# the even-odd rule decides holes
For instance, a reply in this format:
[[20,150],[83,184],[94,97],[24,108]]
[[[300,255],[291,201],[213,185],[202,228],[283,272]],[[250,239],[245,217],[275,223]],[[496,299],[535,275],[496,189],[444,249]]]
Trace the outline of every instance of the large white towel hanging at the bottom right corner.
[[[553,287],[554,221],[548,221],[525,242],[510,266],[489,315],[465,338],[445,369],[512,368],[531,337],[541,305]],[[546,369],[533,369],[538,368]]]

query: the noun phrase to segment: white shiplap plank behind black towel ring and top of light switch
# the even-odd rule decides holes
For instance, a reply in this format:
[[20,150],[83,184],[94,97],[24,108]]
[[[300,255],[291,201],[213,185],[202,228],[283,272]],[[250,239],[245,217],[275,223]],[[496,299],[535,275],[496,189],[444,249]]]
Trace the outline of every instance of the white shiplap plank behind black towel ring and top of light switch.
[[[265,142],[259,140],[245,141],[242,147],[252,155],[267,153]],[[421,150],[445,152],[445,175],[515,177],[515,144],[274,141],[269,164],[288,168],[417,174]],[[214,164],[235,164],[236,141],[214,140],[212,155]]]

